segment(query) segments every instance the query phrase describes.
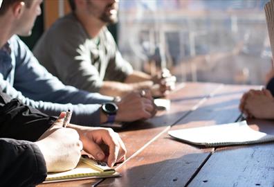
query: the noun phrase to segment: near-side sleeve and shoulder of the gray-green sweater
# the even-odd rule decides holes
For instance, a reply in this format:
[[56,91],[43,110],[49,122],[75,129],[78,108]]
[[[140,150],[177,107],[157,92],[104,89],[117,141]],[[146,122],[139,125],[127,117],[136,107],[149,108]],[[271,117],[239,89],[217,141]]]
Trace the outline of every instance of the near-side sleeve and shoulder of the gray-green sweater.
[[99,92],[102,80],[91,63],[92,46],[85,41],[84,30],[75,22],[68,23],[70,21],[63,21],[56,28],[48,30],[35,46],[33,53],[64,84]]

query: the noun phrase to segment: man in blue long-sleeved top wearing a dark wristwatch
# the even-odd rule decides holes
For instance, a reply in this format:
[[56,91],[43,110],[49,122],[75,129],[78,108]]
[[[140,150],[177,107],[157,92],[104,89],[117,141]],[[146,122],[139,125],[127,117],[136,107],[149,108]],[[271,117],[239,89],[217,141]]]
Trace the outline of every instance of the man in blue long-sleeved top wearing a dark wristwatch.
[[[112,97],[65,86],[39,64],[17,35],[30,35],[39,1],[3,0],[0,9],[0,88],[12,98],[48,115],[73,110],[73,123],[99,125],[113,121],[136,121],[154,116],[156,107],[149,94],[131,93],[119,102]],[[76,78],[77,79],[77,78]],[[100,104],[100,105],[95,105]],[[109,111],[107,109],[113,109]]]

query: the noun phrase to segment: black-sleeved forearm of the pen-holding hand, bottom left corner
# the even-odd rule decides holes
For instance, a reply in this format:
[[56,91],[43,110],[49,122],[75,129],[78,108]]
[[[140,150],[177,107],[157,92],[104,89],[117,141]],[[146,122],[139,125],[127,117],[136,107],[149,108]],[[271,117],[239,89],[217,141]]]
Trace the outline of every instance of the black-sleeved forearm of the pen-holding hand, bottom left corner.
[[1,186],[35,186],[46,179],[46,163],[35,143],[0,139]]

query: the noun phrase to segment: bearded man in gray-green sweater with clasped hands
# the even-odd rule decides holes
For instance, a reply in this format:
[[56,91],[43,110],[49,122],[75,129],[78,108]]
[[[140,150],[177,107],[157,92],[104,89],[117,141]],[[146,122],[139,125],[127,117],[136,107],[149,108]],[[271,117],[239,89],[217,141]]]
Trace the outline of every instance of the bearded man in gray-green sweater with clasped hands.
[[165,96],[176,78],[166,69],[151,76],[134,71],[122,58],[107,24],[117,21],[118,0],[70,0],[71,12],[39,39],[35,57],[65,84],[107,96],[149,89]]

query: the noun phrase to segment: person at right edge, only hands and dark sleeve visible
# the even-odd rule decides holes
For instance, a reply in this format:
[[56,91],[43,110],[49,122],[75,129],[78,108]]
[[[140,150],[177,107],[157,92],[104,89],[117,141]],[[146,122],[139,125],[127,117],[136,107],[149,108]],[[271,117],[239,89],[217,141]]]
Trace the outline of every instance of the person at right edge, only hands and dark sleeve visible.
[[240,111],[250,118],[274,119],[274,70],[266,74],[266,89],[247,91],[239,105]]

